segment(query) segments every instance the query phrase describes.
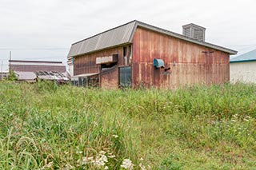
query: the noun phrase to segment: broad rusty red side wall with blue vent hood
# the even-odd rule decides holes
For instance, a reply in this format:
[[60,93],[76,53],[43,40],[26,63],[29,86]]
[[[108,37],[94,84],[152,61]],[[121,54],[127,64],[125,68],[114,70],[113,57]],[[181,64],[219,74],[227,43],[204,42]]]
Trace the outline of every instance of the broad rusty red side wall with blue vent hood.
[[[214,51],[214,53],[202,53]],[[170,75],[154,69],[162,59]],[[175,63],[175,66],[174,66]],[[176,88],[179,85],[219,84],[230,80],[229,54],[138,27],[133,38],[132,83]]]

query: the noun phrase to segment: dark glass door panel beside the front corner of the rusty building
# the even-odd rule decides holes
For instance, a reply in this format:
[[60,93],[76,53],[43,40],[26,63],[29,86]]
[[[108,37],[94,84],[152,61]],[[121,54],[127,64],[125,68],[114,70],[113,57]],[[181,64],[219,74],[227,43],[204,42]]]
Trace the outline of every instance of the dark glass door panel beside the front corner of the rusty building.
[[120,87],[131,87],[131,67],[119,68],[119,85]]

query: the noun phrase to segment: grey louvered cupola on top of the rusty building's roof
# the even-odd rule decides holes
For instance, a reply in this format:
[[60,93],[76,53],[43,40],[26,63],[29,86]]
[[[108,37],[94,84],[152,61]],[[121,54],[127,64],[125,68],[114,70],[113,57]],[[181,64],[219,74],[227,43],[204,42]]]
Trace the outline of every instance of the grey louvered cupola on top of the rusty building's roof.
[[205,42],[206,39],[206,28],[202,26],[197,26],[195,24],[188,24],[182,26],[183,28],[183,35],[188,38],[196,39],[200,42]]

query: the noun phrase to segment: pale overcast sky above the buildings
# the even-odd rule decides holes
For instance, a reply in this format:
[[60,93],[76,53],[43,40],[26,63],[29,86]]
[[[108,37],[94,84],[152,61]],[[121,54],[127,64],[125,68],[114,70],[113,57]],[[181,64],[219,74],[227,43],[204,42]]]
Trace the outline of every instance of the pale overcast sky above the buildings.
[[[138,20],[182,34],[182,25],[206,27],[206,42],[256,49],[255,0],[0,0],[0,61],[65,61],[70,45]],[[0,65],[1,65],[0,62]],[[2,70],[2,67],[0,71]]]

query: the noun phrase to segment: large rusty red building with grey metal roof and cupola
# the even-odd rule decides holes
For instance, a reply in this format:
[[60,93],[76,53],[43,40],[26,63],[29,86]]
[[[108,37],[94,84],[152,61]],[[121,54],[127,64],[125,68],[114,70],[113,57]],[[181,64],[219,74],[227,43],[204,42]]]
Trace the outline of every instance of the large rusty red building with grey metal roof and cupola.
[[230,55],[205,42],[205,28],[183,26],[183,35],[133,21],[71,45],[73,81],[106,89],[143,85],[176,88],[230,81]]

